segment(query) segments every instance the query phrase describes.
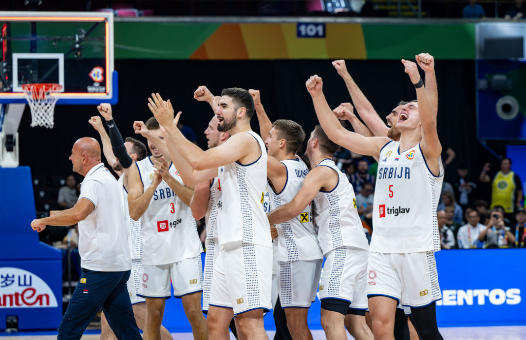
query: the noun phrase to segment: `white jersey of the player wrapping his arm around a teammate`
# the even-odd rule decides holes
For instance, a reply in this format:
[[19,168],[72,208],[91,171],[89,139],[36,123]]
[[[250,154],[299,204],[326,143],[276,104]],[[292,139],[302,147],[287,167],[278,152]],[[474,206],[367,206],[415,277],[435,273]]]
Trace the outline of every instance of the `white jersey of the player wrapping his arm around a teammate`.
[[323,159],[318,166],[327,166],[338,174],[338,184],[331,191],[320,191],[314,198],[318,241],[323,256],[339,247],[369,250],[369,244],[356,209],[355,191],[347,176],[331,159]]

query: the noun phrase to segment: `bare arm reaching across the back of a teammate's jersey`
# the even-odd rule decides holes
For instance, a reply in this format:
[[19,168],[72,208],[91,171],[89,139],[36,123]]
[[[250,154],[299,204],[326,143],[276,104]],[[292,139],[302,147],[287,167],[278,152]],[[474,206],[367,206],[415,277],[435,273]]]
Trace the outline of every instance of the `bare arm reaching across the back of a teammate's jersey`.
[[296,196],[294,196],[289,203],[286,203],[267,214],[270,225],[287,222],[301,214],[309,203],[312,202],[312,199],[316,197],[321,187],[325,185],[327,178],[330,177],[328,171],[333,172],[326,166],[313,168],[307,176],[305,176],[303,185]]

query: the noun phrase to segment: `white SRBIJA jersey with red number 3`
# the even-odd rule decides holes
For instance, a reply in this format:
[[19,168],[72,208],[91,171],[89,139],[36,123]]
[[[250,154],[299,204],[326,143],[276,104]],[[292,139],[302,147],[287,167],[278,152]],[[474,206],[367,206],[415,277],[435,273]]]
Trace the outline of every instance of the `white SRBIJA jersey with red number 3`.
[[[154,178],[151,156],[135,164],[146,191]],[[173,163],[168,172],[183,184]],[[164,180],[155,189],[143,218],[143,264],[171,264],[203,252],[190,208]]]

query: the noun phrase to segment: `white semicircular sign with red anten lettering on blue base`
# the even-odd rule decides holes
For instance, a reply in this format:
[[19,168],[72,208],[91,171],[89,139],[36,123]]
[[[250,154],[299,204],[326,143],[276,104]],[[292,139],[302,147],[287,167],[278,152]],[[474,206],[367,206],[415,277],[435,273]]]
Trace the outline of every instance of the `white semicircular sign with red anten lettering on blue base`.
[[55,294],[37,275],[14,267],[0,267],[0,308],[56,307]]

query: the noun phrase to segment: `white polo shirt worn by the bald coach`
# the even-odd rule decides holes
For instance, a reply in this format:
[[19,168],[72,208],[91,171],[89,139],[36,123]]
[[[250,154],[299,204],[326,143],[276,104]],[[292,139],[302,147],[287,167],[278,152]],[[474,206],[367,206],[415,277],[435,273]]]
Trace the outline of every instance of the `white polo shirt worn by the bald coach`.
[[83,268],[99,272],[131,269],[122,189],[103,163],[94,166],[80,184],[78,199],[89,199],[92,213],[78,223],[78,252]]

